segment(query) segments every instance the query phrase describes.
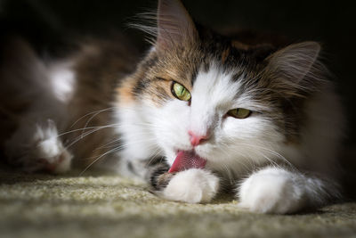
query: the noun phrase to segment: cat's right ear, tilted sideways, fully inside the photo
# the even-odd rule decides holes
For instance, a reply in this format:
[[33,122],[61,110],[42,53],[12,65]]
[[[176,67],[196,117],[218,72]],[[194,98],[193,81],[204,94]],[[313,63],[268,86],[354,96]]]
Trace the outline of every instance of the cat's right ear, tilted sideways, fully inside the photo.
[[320,45],[317,42],[288,45],[266,59],[266,72],[278,81],[275,83],[283,87],[281,89],[312,89],[320,79],[319,53]]

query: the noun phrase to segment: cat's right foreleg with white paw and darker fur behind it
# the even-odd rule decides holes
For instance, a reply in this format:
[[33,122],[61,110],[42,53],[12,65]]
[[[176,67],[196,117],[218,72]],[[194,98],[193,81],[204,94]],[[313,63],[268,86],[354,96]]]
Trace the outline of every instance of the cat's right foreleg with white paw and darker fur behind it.
[[336,187],[330,181],[299,172],[263,168],[239,186],[239,206],[259,213],[294,213],[317,208],[337,196]]

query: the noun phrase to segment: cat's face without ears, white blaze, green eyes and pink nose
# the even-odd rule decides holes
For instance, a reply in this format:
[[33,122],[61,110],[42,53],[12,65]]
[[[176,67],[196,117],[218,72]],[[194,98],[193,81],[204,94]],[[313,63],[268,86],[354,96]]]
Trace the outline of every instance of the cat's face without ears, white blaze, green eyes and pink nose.
[[[238,57],[232,51],[226,57]],[[179,52],[157,53],[146,74],[150,85],[142,91],[144,114],[168,162],[178,152],[193,151],[208,167],[236,168],[235,163],[257,163],[278,152],[285,138],[279,129],[283,116],[269,102],[271,95],[249,84],[259,67],[231,59],[224,65],[219,50]],[[263,100],[263,94],[270,98]]]

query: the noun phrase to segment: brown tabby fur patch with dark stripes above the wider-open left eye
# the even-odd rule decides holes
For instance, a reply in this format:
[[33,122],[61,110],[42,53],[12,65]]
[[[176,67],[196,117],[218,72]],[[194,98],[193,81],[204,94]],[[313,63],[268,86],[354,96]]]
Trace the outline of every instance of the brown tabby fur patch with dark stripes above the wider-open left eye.
[[182,84],[190,92],[192,78],[203,57],[199,51],[191,46],[172,48],[171,51],[151,52],[138,67],[134,75],[125,81],[134,82],[134,96],[145,98],[157,106],[166,100],[176,100],[171,92],[173,81]]

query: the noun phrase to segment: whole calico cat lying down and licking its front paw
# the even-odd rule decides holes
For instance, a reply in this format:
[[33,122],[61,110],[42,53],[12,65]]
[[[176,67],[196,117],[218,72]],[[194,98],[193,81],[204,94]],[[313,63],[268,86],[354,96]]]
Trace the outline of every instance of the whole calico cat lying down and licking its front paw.
[[230,186],[239,207],[261,213],[340,196],[344,117],[318,43],[223,37],[179,0],[158,1],[157,27],[142,29],[155,38],[141,61],[123,37],[82,42],[57,62],[12,42],[1,69],[3,120],[16,128],[7,160],[53,173],[72,158],[110,161],[172,201],[209,202]]

